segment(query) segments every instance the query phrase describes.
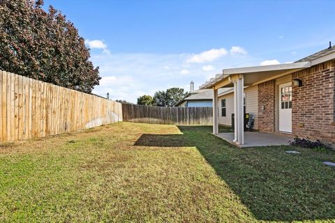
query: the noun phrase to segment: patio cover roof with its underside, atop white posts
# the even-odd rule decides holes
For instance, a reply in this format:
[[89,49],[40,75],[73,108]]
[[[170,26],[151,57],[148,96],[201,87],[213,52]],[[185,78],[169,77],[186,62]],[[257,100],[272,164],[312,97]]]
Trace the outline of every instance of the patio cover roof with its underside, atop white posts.
[[230,77],[234,75],[244,75],[244,86],[251,86],[310,67],[311,62],[307,61],[270,66],[224,69],[222,74],[218,74],[215,78],[211,78],[209,82],[200,86],[200,89],[211,89],[213,86],[215,86],[215,89],[232,87],[233,84],[230,82]]

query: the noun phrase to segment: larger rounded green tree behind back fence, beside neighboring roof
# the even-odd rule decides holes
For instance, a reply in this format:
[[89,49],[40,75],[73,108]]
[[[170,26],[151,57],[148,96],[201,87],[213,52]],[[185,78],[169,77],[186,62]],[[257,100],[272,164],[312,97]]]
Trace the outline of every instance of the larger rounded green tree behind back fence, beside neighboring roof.
[[154,103],[160,107],[173,107],[187,95],[184,89],[172,88],[166,91],[157,91],[154,95]]

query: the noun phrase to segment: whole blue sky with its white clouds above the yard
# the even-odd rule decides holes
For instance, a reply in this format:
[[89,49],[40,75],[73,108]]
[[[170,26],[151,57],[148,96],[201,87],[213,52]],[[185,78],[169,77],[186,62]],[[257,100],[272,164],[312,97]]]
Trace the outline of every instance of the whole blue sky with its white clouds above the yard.
[[335,1],[45,1],[100,67],[94,93],[136,102],[223,68],[288,63],[335,44]]

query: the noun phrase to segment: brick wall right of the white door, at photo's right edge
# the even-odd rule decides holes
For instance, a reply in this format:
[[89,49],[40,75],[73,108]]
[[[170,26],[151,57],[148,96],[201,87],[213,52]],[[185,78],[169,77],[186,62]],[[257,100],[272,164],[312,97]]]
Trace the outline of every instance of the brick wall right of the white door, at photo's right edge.
[[292,134],[335,143],[335,61],[292,74],[302,86],[292,88]]

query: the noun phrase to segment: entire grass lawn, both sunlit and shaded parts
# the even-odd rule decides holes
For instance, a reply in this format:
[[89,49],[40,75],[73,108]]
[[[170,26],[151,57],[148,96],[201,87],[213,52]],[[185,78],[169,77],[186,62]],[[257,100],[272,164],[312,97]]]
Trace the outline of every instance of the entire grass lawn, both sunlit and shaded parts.
[[334,151],[240,149],[210,132],[115,123],[3,144],[0,222],[335,222]]

